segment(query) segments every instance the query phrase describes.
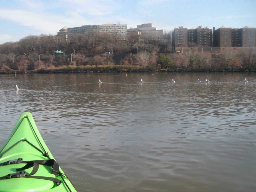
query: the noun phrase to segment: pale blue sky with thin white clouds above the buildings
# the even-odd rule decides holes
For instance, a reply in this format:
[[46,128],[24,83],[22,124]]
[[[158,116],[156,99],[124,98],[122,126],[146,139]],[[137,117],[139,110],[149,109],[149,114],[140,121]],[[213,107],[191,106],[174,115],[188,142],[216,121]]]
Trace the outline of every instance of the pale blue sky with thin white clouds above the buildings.
[[0,44],[28,35],[56,35],[64,26],[120,22],[127,28],[155,23],[158,29],[202,26],[256,27],[256,1],[0,1]]

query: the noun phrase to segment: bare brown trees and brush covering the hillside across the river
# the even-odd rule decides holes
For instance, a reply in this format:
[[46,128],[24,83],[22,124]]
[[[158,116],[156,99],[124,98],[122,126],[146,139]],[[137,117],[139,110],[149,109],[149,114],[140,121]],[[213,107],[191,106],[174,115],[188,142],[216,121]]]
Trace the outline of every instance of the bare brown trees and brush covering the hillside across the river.
[[[54,56],[56,50],[64,51],[65,57],[62,54]],[[131,65],[141,70],[255,70],[255,56],[255,49],[239,55],[198,53],[193,47],[189,54],[173,53],[171,31],[158,38],[153,33],[140,36],[130,33],[127,40],[120,40],[117,34],[106,33],[95,33],[91,37],[86,34],[73,35],[67,41],[54,35],[41,34],[1,44],[0,73],[69,65]]]

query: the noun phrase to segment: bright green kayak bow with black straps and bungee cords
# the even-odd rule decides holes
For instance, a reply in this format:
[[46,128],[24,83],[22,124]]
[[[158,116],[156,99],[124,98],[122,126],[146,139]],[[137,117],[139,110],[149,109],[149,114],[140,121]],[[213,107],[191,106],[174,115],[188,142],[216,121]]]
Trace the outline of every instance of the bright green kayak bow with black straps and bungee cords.
[[[23,159],[22,163],[8,165],[8,161],[19,158]],[[45,162],[54,162],[54,165]],[[27,164],[33,166],[28,165],[25,169]],[[0,191],[76,191],[57,165],[31,113],[22,113],[0,150]],[[23,169],[17,170],[19,168]],[[9,178],[17,177],[15,173],[22,173],[23,176]]]

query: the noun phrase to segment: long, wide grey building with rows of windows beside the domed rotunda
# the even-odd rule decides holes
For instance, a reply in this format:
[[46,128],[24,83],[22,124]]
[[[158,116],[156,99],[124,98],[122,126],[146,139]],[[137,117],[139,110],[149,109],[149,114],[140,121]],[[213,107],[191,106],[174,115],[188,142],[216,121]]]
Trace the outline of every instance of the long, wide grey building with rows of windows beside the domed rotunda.
[[88,37],[96,33],[108,33],[117,35],[119,39],[127,39],[127,25],[117,22],[117,24],[102,24],[102,25],[82,25],[81,27],[68,28],[68,37],[72,38],[75,34],[86,34]]

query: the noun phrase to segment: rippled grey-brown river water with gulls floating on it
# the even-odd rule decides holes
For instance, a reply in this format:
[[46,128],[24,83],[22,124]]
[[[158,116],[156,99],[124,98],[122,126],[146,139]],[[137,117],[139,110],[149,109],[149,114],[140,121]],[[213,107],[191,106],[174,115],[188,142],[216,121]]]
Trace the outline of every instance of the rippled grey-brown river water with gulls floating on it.
[[0,80],[0,146],[20,114],[31,112],[78,191],[256,190],[254,73],[17,74]]

